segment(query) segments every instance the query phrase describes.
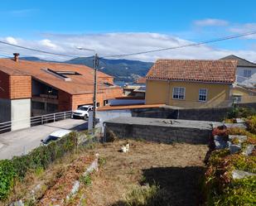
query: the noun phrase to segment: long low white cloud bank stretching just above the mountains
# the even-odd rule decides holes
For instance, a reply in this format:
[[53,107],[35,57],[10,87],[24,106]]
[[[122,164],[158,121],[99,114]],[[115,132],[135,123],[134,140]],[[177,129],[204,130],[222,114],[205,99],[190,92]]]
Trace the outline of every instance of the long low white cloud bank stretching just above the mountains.
[[[6,38],[0,38],[6,40]],[[38,50],[47,50],[50,52],[75,55],[89,56],[94,55],[91,51],[77,50],[77,46],[94,49],[99,56],[120,55],[145,50],[157,50],[168,47],[184,46],[191,44],[176,36],[161,33],[102,33],[102,34],[85,34],[85,35],[62,35],[62,34],[44,34],[44,38],[37,41],[18,39],[18,45],[35,48]],[[46,60],[66,60],[67,58],[46,55],[29,50],[22,50],[12,46],[0,44],[1,51],[8,52],[10,55],[19,52],[22,56],[36,56]],[[162,52],[147,53],[142,55],[132,55],[122,57],[130,60],[155,61],[158,58],[170,59],[220,59],[225,55],[239,55],[247,60],[256,60],[256,49],[250,50],[223,50],[215,49],[210,46],[191,46],[176,50],[165,50]]]

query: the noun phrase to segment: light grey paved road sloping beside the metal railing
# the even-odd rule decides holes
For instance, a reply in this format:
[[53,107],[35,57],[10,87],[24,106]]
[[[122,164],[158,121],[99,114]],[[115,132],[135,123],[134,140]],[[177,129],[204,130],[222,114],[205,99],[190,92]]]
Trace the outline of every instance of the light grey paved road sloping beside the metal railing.
[[14,132],[0,134],[0,160],[20,156],[39,146],[41,139],[48,137],[51,132],[58,129],[75,131],[85,130],[87,122],[82,119],[66,119],[45,125],[30,127]]

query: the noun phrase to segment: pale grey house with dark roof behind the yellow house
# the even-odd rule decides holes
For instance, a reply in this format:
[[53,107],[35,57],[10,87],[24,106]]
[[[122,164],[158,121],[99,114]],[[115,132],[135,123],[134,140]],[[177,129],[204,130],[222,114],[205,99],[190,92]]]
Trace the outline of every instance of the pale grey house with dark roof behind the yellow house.
[[[244,84],[246,86],[248,79],[255,74],[256,79],[256,64],[249,60],[244,60],[236,55],[228,55],[221,60],[237,60],[238,65],[236,69],[236,82],[238,84]],[[256,84],[256,82],[255,82]]]

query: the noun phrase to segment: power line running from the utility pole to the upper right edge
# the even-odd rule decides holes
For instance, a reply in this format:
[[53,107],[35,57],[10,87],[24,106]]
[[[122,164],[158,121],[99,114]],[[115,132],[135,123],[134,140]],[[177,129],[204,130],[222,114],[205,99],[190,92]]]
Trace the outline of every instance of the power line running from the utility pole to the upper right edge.
[[168,47],[168,48],[164,48],[164,49],[147,50],[147,51],[141,51],[141,52],[136,52],[136,53],[128,53],[128,54],[123,54],[123,55],[106,55],[102,58],[124,57],[124,56],[128,56],[128,55],[142,55],[142,54],[147,54],[147,53],[152,53],[152,52],[157,52],[157,51],[163,51],[163,50],[176,50],[176,49],[180,49],[180,48],[184,48],[184,47],[200,46],[200,45],[205,45],[205,44],[209,44],[209,43],[213,43],[213,42],[217,42],[217,41],[226,41],[226,40],[230,40],[230,39],[236,39],[236,38],[239,38],[239,37],[251,36],[251,35],[254,35],[254,34],[256,34],[256,31],[243,33],[243,34],[236,35],[236,36],[220,37],[218,39],[213,39],[213,40],[208,40],[208,41],[200,41],[200,42],[197,42],[197,43],[187,44],[187,45],[184,45],[184,46],[173,46],[173,47]]

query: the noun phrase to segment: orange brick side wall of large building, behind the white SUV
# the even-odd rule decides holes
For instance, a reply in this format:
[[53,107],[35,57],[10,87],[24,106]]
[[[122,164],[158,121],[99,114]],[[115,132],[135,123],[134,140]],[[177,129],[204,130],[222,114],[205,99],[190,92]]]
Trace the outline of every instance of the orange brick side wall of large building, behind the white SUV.
[[[123,95],[123,89],[103,89],[97,93],[97,102],[99,106],[104,106],[104,100],[116,98]],[[75,110],[79,105],[93,104],[93,93],[71,95],[63,91],[59,91],[59,111]]]

